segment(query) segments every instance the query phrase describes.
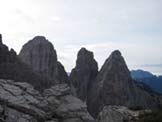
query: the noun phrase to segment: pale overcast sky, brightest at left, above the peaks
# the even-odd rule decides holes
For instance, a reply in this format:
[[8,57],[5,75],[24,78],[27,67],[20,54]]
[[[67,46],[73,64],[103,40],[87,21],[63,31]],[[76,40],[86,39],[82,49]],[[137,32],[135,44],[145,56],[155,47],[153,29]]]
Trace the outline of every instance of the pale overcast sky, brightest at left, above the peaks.
[[67,71],[84,46],[99,67],[119,49],[130,69],[162,74],[162,0],[0,0],[0,33],[18,53],[45,36]]

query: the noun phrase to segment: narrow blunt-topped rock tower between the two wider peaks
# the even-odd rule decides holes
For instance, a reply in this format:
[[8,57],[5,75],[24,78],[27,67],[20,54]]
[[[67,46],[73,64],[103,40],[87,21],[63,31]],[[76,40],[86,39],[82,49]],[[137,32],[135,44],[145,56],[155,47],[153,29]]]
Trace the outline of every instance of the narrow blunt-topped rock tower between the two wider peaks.
[[76,67],[70,74],[70,81],[75,88],[77,96],[81,100],[86,101],[88,91],[92,86],[97,73],[98,66],[93,53],[82,48],[78,52]]

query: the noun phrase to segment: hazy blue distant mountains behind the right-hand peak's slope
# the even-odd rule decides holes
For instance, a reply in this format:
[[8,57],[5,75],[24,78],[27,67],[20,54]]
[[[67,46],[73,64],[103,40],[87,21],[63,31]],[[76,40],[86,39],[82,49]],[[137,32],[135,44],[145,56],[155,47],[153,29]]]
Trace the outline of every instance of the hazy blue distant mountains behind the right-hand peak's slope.
[[132,70],[133,79],[149,85],[154,91],[162,93],[162,76],[156,76],[148,71]]

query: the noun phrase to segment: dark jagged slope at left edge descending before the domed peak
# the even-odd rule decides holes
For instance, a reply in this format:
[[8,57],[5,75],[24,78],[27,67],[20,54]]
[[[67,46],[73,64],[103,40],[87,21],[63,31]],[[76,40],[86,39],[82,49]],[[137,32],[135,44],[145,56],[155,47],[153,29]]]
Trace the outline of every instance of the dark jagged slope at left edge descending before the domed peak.
[[44,90],[52,85],[52,81],[33,71],[29,66],[22,63],[16,52],[2,43],[0,39],[0,78],[11,79],[15,82],[28,82],[37,90]]

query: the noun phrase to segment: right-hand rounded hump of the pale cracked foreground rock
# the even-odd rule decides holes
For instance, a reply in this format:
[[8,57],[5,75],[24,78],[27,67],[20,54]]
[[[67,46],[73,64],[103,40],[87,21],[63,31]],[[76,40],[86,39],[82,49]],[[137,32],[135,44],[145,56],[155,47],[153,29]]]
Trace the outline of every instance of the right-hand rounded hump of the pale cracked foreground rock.
[[94,122],[94,119],[87,111],[86,104],[70,94],[68,85],[59,84],[53,86],[44,91],[44,96],[48,101],[49,109],[52,108],[50,111],[64,121],[77,119],[83,122]]

